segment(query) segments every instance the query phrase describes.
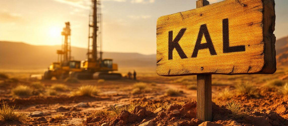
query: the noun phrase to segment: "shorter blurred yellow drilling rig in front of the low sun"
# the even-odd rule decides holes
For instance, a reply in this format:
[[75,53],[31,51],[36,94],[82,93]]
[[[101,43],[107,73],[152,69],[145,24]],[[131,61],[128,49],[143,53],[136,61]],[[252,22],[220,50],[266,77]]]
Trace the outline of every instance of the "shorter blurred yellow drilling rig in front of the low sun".
[[[58,61],[52,63],[44,73],[44,79],[51,80],[52,77],[65,79],[69,76],[70,71],[80,72],[81,62],[71,60],[71,29],[70,22],[66,22],[66,27],[61,32],[62,49],[57,50]],[[63,39],[64,38],[64,39]]]

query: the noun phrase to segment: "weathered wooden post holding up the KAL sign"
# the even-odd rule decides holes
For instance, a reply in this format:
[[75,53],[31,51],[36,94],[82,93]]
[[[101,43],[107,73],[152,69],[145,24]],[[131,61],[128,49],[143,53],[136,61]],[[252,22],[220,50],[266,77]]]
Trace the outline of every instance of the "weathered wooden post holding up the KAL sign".
[[[207,0],[196,1],[196,8],[209,5]],[[212,121],[212,75],[197,75],[197,118]]]

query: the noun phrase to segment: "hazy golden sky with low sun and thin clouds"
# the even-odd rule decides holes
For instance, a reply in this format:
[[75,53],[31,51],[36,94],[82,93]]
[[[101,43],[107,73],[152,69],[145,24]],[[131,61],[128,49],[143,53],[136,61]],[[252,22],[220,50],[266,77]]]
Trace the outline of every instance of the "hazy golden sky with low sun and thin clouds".
[[[210,4],[223,0],[209,0]],[[0,40],[61,44],[71,22],[72,46],[87,48],[90,0],[0,0]],[[196,0],[102,0],[103,49],[156,53],[158,17],[196,8]],[[288,0],[275,0],[277,39],[288,35]]]

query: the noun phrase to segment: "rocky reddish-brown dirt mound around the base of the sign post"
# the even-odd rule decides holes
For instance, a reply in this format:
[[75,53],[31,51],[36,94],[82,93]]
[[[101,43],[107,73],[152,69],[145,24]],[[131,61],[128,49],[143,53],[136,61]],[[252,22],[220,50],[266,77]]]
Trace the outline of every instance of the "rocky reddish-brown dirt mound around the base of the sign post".
[[[231,111],[225,106],[212,104],[213,122],[202,122],[196,119],[197,102],[190,102],[183,105],[173,104],[167,109],[158,108],[154,112],[147,111],[145,107],[136,106],[134,111],[122,111],[116,118],[96,117],[87,119],[84,125],[177,125],[177,126],[197,126],[197,125],[288,125],[287,119],[273,111],[252,111],[251,114],[243,119],[235,119],[231,116]],[[94,121],[92,121],[94,120]]]

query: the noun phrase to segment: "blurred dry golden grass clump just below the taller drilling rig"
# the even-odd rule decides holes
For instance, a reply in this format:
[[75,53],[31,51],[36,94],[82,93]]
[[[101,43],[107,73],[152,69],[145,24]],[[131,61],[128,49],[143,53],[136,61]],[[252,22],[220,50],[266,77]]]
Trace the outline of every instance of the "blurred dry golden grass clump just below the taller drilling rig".
[[79,96],[92,96],[92,95],[98,95],[99,90],[92,85],[86,85],[81,86],[78,88],[78,91],[76,92]]

